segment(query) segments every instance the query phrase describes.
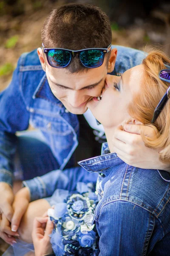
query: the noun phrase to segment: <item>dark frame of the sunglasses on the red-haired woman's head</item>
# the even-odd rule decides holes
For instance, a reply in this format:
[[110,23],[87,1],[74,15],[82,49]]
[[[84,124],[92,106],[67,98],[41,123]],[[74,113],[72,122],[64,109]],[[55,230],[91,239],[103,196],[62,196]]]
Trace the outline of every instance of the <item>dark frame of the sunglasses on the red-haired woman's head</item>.
[[[167,69],[163,69],[159,72],[159,78],[162,80],[162,81],[166,81],[168,83],[170,83],[170,80],[168,79],[164,79],[160,76],[160,73],[162,71],[170,71],[170,63],[164,63],[165,67],[167,67]],[[153,113],[153,118],[152,118],[152,121],[151,123],[153,124],[156,119],[158,118],[159,114],[161,113],[162,109],[164,108],[165,104],[167,103],[167,100],[170,98],[170,87],[167,89],[166,93],[164,94],[164,96],[161,98],[159,104],[157,105],[154,113]]]

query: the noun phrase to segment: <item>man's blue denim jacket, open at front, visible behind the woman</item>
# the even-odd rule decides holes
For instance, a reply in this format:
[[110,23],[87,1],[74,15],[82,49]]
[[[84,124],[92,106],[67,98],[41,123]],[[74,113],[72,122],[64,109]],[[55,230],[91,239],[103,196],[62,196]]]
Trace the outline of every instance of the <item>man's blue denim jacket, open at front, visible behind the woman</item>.
[[[145,56],[136,49],[113,47],[118,49],[117,75],[141,64]],[[63,170],[78,145],[79,121],[51,92],[37,50],[21,55],[11,84],[0,93],[0,181],[12,184],[15,133],[29,124],[42,131]]]

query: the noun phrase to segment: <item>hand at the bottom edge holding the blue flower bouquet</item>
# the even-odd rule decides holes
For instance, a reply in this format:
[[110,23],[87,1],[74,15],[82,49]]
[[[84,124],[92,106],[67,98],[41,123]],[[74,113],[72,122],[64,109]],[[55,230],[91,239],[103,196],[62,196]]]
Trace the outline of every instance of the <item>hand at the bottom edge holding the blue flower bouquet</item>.
[[[46,228],[45,228],[46,225]],[[35,256],[45,256],[53,252],[50,237],[54,224],[45,218],[35,218],[32,232],[32,240],[34,244]]]

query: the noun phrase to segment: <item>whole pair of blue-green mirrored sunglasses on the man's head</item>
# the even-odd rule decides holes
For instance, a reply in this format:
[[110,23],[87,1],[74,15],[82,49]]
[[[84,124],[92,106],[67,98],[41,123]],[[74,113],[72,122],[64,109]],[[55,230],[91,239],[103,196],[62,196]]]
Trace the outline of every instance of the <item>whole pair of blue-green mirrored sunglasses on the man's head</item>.
[[42,43],[42,50],[51,67],[67,67],[71,63],[73,56],[77,55],[84,67],[95,68],[103,64],[105,53],[111,51],[111,44],[109,44],[107,48],[88,48],[73,51],[62,48],[45,48]]

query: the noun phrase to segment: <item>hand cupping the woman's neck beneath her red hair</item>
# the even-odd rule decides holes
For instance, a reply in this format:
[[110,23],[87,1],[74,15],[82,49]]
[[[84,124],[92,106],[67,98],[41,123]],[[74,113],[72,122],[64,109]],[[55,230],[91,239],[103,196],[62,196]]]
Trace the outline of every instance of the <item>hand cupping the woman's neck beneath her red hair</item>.
[[170,172],[170,163],[161,163],[158,151],[147,148],[140,135],[143,131],[145,136],[152,138],[155,135],[153,128],[144,125],[126,124],[124,130],[122,126],[119,126],[113,134],[113,149],[118,157],[131,166]]

